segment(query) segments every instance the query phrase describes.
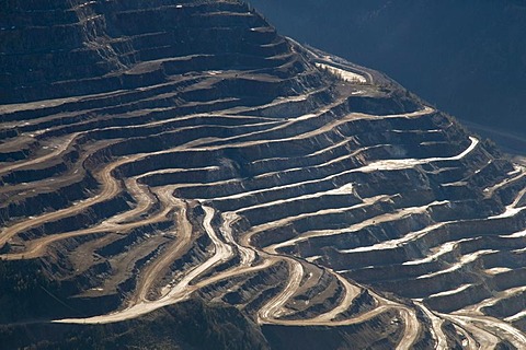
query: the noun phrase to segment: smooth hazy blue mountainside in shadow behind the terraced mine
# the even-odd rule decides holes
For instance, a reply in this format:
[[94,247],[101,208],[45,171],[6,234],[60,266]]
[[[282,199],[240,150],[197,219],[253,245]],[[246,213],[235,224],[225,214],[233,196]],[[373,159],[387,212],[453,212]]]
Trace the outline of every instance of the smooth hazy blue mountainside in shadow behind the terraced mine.
[[[388,73],[526,148],[526,3],[458,0],[252,0],[283,34]],[[504,137],[494,131],[504,132]]]

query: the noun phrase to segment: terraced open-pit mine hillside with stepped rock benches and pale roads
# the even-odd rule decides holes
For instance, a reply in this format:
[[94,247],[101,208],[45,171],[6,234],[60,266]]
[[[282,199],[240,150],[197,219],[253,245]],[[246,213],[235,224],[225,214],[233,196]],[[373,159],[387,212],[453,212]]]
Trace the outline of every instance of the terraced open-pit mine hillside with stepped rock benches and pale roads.
[[193,298],[277,349],[526,343],[526,168],[491,143],[238,1],[2,7],[2,323]]

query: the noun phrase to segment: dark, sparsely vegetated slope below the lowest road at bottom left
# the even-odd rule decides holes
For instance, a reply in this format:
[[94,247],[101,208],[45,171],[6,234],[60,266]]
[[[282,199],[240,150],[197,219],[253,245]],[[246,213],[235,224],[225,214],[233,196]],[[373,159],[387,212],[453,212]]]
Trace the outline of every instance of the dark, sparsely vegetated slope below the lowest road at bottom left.
[[235,307],[191,300],[150,315],[108,325],[0,325],[5,349],[225,349],[264,350],[259,327]]

